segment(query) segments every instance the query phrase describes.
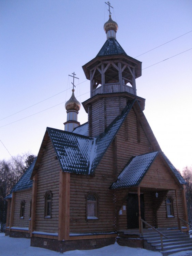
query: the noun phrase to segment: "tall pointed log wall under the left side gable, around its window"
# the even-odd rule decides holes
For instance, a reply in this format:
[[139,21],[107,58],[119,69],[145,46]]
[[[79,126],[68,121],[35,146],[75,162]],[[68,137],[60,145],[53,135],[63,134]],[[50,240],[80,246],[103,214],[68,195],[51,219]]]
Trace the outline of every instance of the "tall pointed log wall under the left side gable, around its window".
[[[58,232],[59,172],[61,167],[55,157],[56,153],[49,138],[41,159],[41,166],[38,169],[35,231]],[[53,194],[52,217],[44,218],[44,196],[48,190]]]

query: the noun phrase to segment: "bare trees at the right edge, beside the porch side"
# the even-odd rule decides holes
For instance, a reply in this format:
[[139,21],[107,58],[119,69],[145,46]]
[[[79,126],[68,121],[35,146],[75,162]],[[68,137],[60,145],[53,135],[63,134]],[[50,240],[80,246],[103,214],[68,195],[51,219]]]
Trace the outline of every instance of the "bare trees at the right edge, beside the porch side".
[[184,180],[186,180],[186,200],[189,223],[192,223],[192,166],[184,167],[182,170]]

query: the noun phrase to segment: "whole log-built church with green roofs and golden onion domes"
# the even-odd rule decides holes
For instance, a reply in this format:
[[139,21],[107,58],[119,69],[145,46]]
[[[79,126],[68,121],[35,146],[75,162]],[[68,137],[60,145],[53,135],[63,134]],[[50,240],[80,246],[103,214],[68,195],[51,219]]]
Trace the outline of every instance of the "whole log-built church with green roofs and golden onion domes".
[[73,89],[65,130],[46,128],[37,158],[6,198],[6,235],[28,237],[31,246],[145,247],[141,234],[149,227],[188,230],[186,182],[161,151],[143,113],[145,99],[136,95],[142,63],[116,40],[111,15],[104,30],[106,42],[83,66],[88,122],[77,121]]

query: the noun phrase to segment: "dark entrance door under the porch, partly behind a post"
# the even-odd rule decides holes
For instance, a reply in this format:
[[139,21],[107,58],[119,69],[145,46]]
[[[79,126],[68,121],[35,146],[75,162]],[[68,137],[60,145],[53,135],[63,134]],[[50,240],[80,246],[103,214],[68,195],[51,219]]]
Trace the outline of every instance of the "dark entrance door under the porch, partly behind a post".
[[[144,196],[140,195],[141,218],[144,219]],[[127,196],[127,228],[139,228],[138,195],[129,193]]]

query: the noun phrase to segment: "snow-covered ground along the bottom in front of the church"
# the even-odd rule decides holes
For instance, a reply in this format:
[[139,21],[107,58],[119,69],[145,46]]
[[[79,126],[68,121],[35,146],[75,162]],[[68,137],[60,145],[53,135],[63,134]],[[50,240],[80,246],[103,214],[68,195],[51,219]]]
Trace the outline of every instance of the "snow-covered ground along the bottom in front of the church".
[[[0,256],[162,256],[161,253],[144,250],[141,248],[130,248],[120,246],[117,243],[95,250],[69,251],[58,253],[47,249],[31,247],[30,239],[5,237],[0,233]],[[172,256],[192,256],[192,251],[172,254]]]

